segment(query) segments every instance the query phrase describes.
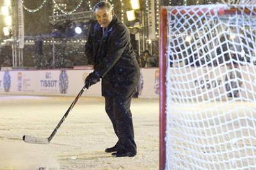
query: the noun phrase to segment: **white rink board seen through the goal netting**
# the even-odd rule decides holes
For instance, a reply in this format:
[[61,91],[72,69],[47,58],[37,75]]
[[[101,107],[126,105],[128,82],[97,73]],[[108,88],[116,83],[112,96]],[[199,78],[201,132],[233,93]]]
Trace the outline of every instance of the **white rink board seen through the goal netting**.
[[[227,99],[226,81],[227,76],[235,73],[241,74],[240,78],[234,78],[232,81],[241,82],[239,94],[244,99],[253,99],[253,92],[256,92],[256,67],[240,66],[230,69],[223,67],[183,67],[170,68],[170,82],[173,88],[171,97],[181,99]],[[249,73],[249,74],[248,74]],[[181,82],[181,83],[180,83]]]

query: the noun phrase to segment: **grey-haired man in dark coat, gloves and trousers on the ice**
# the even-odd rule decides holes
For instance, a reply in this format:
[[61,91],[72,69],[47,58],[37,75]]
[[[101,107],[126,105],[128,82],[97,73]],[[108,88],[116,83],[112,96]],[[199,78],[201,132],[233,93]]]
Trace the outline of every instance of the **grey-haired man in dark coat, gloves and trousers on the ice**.
[[133,157],[136,155],[136,143],[130,106],[140,68],[128,29],[116,18],[111,4],[100,1],[93,7],[93,12],[97,21],[90,27],[86,55],[94,71],[86,77],[85,85],[88,89],[102,79],[106,112],[118,137],[116,145],[105,152],[114,152],[114,157]]

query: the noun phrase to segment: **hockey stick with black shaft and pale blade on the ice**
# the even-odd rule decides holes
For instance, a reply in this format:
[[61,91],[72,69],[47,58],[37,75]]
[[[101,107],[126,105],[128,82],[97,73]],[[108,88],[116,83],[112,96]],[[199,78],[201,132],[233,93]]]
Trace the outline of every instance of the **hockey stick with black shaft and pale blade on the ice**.
[[56,134],[56,132],[58,131],[58,129],[60,128],[60,125],[64,122],[64,120],[67,118],[68,113],[72,110],[72,108],[74,107],[74,105],[76,104],[76,102],[78,101],[79,97],[83,94],[84,90],[86,89],[85,87],[86,85],[84,85],[83,89],[79,92],[79,94],[76,96],[76,99],[74,99],[73,103],[69,106],[68,110],[66,111],[65,115],[61,118],[60,122],[58,123],[58,125],[55,127],[54,131],[52,132],[52,134],[48,137],[48,138],[36,138],[34,136],[28,136],[28,135],[24,135],[22,137],[24,142],[27,143],[35,143],[35,144],[49,144],[51,139],[54,137],[54,135]]

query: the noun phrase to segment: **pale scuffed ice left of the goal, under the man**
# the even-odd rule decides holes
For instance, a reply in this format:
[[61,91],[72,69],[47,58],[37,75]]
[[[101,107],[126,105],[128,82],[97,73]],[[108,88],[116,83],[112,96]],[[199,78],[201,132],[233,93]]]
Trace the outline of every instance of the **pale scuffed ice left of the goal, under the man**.
[[104,152],[117,138],[102,97],[81,97],[50,144],[22,141],[47,138],[74,98],[0,94],[0,169],[158,169],[158,99],[132,99],[136,157]]

